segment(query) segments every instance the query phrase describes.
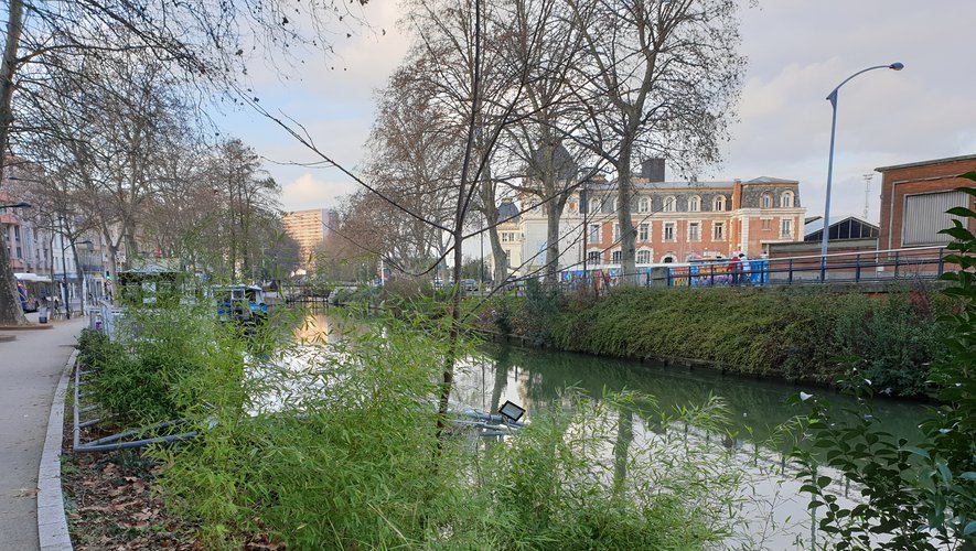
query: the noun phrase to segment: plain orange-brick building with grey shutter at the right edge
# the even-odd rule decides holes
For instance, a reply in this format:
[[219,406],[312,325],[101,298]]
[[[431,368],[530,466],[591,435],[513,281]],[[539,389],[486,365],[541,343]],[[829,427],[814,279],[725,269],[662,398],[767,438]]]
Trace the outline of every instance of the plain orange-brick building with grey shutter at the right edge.
[[[959,174],[976,171],[976,154],[919,161],[875,169],[881,173],[881,225],[878,248],[945,245],[939,230],[952,227],[952,207],[973,208],[973,197],[955,191],[973,185]],[[969,230],[976,224],[969,222]]]

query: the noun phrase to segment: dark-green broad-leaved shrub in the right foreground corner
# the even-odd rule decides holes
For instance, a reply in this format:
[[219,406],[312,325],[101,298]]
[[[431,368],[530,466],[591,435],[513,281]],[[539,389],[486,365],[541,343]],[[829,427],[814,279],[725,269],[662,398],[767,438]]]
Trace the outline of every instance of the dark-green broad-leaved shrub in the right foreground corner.
[[[976,172],[962,177],[976,181]],[[976,196],[976,188],[959,191]],[[948,213],[976,220],[965,207]],[[943,277],[954,283],[944,293],[958,310],[940,325],[945,350],[931,382],[942,403],[921,425],[924,440],[910,445],[880,431],[864,400],[858,409],[835,412],[816,397],[793,398],[807,407],[798,421],[806,443],[794,451],[802,490],[811,494],[811,508],[823,509],[819,528],[838,537],[838,549],[976,547],[976,236],[959,220],[943,233],[954,238],[946,261],[958,266]],[[873,381],[851,372],[852,391],[869,398]],[[841,506],[826,489],[841,478],[860,487],[862,504]]]

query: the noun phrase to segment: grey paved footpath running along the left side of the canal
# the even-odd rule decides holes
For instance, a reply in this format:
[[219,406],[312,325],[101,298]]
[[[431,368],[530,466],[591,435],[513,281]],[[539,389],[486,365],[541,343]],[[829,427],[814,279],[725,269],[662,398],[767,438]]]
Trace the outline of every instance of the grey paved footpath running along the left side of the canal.
[[[36,322],[36,314],[29,315]],[[52,329],[3,331],[0,338],[0,550],[40,549],[37,467],[47,415],[84,317]]]

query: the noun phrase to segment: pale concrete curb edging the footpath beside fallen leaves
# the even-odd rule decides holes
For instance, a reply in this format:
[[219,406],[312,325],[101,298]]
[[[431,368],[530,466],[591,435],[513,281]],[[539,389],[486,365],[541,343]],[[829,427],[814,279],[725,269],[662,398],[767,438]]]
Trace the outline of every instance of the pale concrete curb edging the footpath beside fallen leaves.
[[47,418],[47,437],[37,472],[37,536],[41,551],[73,549],[61,493],[61,441],[64,436],[64,398],[77,357],[78,350],[72,353],[61,372]]

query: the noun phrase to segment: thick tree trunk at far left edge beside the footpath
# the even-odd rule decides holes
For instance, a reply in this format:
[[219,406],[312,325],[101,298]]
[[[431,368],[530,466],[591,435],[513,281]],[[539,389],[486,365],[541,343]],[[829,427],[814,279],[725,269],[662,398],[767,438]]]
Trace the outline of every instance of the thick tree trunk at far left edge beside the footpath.
[[[10,142],[10,126],[13,123],[13,75],[17,73],[17,50],[20,45],[21,23],[23,20],[23,2],[10,0],[7,8],[7,44],[3,47],[3,62],[0,64],[0,182],[3,181],[3,168],[7,160],[7,148]],[[17,292],[17,279],[10,266],[10,252],[7,250],[7,237],[0,231],[0,325],[24,325],[24,317]]]

